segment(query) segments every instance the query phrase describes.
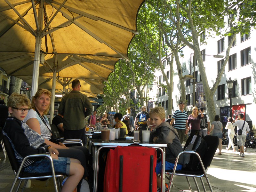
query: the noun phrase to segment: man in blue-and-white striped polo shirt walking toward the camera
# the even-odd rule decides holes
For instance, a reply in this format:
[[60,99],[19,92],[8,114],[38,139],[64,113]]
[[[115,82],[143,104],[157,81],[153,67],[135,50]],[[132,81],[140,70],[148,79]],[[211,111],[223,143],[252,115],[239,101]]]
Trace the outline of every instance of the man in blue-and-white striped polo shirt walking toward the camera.
[[174,128],[177,130],[180,143],[182,144],[185,134],[188,134],[188,113],[184,111],[185,103],[183,101],[179,102],[179,110],[176,110],[172,115],[172,121],[170,125],[174,124]]

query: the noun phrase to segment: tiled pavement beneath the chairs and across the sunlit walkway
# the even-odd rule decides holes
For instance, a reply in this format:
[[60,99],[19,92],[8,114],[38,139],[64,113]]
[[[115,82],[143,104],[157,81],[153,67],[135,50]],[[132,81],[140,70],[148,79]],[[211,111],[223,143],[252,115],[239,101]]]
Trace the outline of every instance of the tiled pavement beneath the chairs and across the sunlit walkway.
[[[219,150],[217,149],[212,164],[207,171],[213,191],[256,192],[256,149],[248,148],[245,157],[240,157],[238,152],[227,151],[225,147],[227,146],[223,146],[222,155],[218,155]],[[11,188],[14,174],[8,157],[4,158],[2,148],[0,149],[0,158],[0,192],[7,192]],[[203,180],[206,190],[209,191],[206,180]],[[192,190],[197,191],[192,179],[190,179],[190,183]],[[197,183],[200,190],[204,191],[199,179]],[[54,191],[52,181],[49,182],[47,187],[45,184],[46,181],[32,180],[31,188],[25,189],[25,191]],[[176,176],[174,178],[174,187],[172,187],[171,191],[189,191],[185,177]]]

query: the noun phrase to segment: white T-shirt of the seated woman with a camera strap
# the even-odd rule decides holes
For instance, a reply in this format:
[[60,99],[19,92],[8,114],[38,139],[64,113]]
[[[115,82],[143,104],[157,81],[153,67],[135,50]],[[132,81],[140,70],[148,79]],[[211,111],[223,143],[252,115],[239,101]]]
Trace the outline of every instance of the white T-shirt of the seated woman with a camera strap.
[[51,126],[49,124],[48,118],[45,115],[43,116],[44,121],[46,122],[49,129],[46,127],[46,125],[44,124],[44,122],[42,121],[42,119],[39,117],[39,115],[36,113],[36,111],[34,109],[30,109],[28,111],[28,115],[25,117],[23,122],[26,123],[28,121],[28,119],[31,119],[31,118],[36,118],[39,121],[41,136],[44,139],[50,140],[51,139],[51,132],[49,131],[49,129],[51,129]]

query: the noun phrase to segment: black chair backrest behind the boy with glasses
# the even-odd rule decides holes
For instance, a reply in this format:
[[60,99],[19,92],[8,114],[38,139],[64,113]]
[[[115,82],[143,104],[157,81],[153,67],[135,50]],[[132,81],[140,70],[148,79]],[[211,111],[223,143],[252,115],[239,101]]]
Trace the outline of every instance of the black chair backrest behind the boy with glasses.
[[4,141],[4,146],[5,146],[9,161],[12,166],[12,170],[14,170],[17,173],[18,169],[20,168],[20,165],[16,159],[14,150],[12,148],[12,144],[10,143],[8,137],[6,137],[5,135],[3,136],[3,141]]

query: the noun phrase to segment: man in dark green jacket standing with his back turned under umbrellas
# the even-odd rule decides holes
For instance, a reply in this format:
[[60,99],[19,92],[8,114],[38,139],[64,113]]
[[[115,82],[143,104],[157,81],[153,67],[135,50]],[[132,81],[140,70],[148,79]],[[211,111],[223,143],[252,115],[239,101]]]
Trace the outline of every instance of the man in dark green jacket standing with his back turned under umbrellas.
[[81,139],[85,142],[84,119],[92,113],[92,104],[80,92],[81,84],[78,79],[72,81],[71,86],[73,90],[62,98],[58,110],[63,115],[64,140]]

